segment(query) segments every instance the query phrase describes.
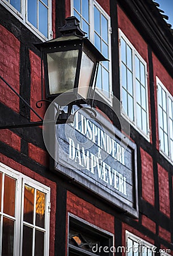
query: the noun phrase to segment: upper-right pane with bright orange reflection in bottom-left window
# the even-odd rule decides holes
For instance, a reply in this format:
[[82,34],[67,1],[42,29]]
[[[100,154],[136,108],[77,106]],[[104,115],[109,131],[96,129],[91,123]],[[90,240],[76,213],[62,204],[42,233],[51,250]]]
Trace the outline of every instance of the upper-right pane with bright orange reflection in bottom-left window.
[[36,193],[36,226],[44,228],[45,223],[45,193],[37,190]]

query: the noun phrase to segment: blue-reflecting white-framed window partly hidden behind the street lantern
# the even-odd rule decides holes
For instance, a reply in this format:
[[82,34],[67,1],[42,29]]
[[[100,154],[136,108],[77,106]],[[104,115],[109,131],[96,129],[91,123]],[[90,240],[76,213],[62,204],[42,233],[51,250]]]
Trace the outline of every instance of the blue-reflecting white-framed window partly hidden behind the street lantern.
[[[110,17],[102,7],[94,0],[71,0],[71,13],[80,21],[83,31],[95,47],[109,61],[103,61],[99,65],[98,79],[96,81],[97,92],[112,102],[111,81],[111,27]],[[87,3],[87,4],[86,4]]]

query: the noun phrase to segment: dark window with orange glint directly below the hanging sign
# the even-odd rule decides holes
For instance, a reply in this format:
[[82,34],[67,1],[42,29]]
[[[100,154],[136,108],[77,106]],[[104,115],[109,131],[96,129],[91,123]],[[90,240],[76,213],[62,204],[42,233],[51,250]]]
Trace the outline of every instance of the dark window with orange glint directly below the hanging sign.
[[69,213],[68,256],[113,256],[113,234]]

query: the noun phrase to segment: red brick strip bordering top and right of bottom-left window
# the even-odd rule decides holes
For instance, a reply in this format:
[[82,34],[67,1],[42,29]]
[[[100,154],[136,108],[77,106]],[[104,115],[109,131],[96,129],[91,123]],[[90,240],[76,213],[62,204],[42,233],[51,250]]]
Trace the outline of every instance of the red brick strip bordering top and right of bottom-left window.
[[54,256],[54,238],[55,238],[55,222],[56,222],[56,183],[48,180],[47,178],[37,174],[35,171],[30,170],[27,167],[22,166],[14,160],[7,158],[7,156],[0,153],[0,162],[6,164],[12,169],[21,172],[34,180],[39,181],[42,184],[50,187],[50,242],[49,242],[49,256]]

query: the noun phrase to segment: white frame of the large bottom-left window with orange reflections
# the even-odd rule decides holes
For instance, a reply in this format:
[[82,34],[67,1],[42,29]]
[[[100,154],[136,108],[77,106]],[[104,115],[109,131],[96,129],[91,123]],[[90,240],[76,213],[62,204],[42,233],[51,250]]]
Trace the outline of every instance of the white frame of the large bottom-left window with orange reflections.
[[[16,179],[16,190],[15,190],[15,225],[14,225],[14,255],[22,255],[22,242],[23,242],[23,205],[24,205],[24,184],[30,185],[34,189],[38,189],[46,194],[45,201],[45,239],[44,239],[44,256],[49,254],[49,222],[50,222],[50,188],[44,184],[39,183],[30,177],[21,174],[18,171],[0,163],[0,172]],[[3,175],[4,177],[4,175]],[[2,180],[3,181],[3,180]],[[3,195],[3,194],[2,194]],[[3,197],[2,197],[3,203]],[[1,209],[0,209],[1,212]],[[3,213],[2,216],[8,216]],[[10,217],[11,218],[11,217]],[[0,243],[2,241],[2,225],[0,229]],[[0,246],[0,255],[1,248]]]

